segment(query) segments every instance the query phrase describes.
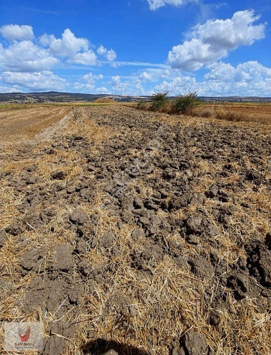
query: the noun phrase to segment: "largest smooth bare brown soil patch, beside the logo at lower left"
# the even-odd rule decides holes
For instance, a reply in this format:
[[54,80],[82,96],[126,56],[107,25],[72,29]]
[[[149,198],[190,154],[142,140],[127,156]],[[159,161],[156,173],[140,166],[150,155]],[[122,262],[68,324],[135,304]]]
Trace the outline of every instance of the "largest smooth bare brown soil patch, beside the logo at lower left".
[[56,246],[55,259],[47,263],[44,251],[29,251],[22,257],[21,268],[17,268],[22,276],[29,272],[35,276],[25,297],[17,299],[15,305],[22,307],[26,314],[42,309],[59,320],[47,329],[49,337],[44,340],[42,354],[62,353],[66,339],[75,332],[75,324],[63,320],[67,312],[75,317],[74,308],[82,302],[85,287],[81,274],[74,274],[73,250],[72,246]]

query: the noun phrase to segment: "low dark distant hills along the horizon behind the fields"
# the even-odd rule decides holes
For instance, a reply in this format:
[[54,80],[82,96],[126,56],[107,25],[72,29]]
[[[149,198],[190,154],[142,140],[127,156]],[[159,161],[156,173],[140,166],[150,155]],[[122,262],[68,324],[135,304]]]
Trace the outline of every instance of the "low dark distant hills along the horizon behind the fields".
[[[31,92],[31,93],[0,93],[0,102],[7,103],[52,103],[52,102],[93,102],[98,98],[113,99],[118,102],[135,102],[150,100],[151,96],[126,96],[126,95],[105,95],[105,94],[79,94],[69,92]],[[173,99],[173,97],[169,97]],[[271,97],[206,97],[199,96],[204,102],[271,102]]]

